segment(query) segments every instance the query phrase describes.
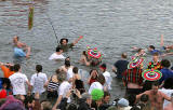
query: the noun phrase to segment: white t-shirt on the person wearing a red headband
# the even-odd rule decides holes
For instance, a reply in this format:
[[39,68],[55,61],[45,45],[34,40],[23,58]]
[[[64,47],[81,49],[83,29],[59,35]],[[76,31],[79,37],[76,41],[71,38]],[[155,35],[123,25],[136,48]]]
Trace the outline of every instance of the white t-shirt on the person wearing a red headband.
[[103,73],[103,75],[105,77],[105,80],[106,80],[106,84],[105,85],[107,86],[108,90],[111,90],[111,81],[112,81],[112,79],[111,79],[110,73],[108,71],[105,71]]

